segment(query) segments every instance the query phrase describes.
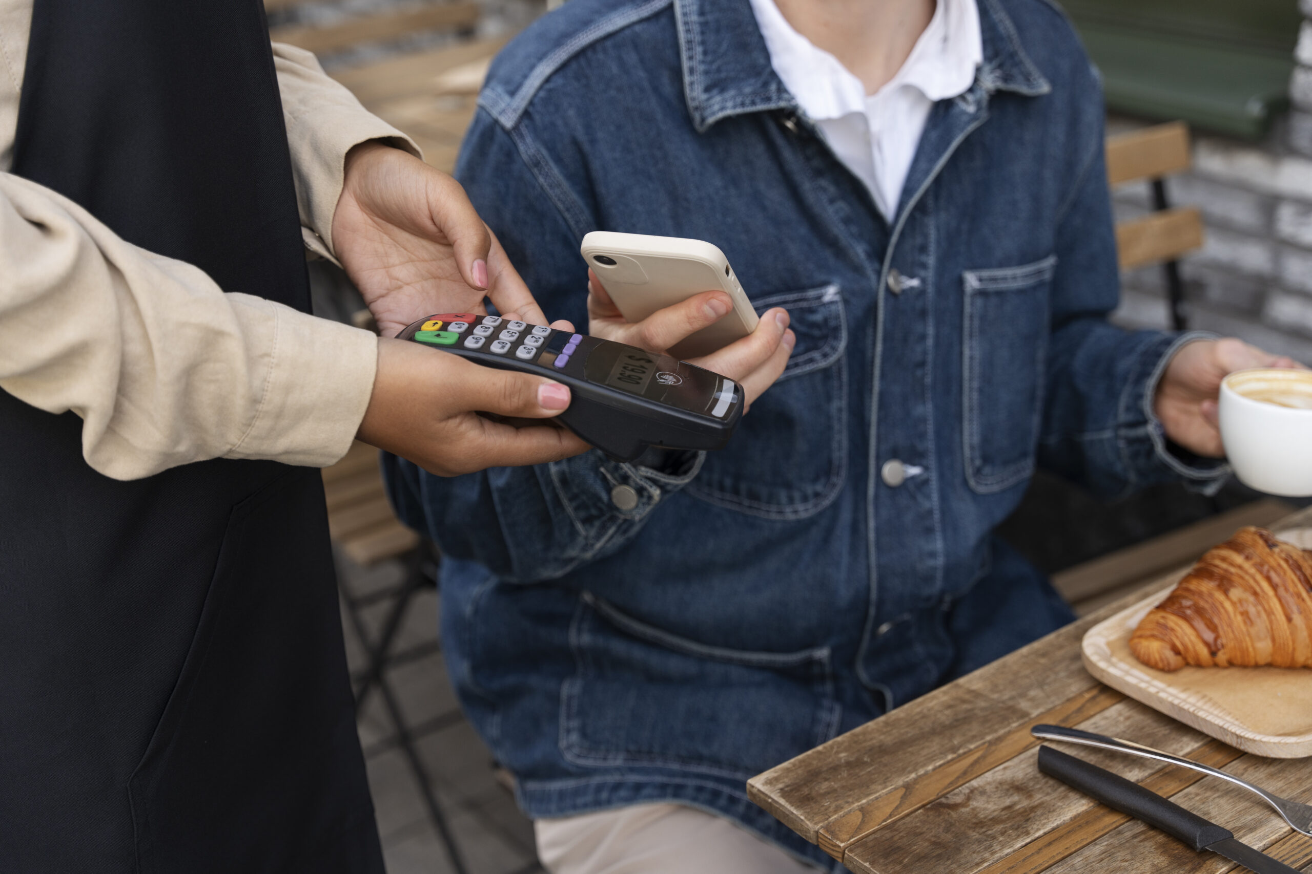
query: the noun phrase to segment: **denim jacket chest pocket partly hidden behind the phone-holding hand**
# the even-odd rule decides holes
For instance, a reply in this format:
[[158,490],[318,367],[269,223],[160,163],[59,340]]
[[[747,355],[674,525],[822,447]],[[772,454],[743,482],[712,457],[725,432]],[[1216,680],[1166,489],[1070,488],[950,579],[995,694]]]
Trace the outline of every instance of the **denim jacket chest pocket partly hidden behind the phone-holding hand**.
[[800,519],[827,507],[846,468],[848,322],[838,286],[771,295],[798,343],[778,381],[743,417],[728,447],[710,452],[685,494],[766,519]]

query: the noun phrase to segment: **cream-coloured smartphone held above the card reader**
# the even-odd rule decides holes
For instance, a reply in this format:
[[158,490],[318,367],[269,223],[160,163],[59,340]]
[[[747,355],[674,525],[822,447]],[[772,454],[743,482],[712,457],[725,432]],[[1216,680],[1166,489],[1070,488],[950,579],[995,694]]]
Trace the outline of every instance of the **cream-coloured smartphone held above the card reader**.
[[733,308],[718,322],[672,346],[674,358],[698,358],[756,330],[757,316],[718,246],[684,237],[593,231],[579,248],[602,288],[631,322],[703,291],[723,291]]

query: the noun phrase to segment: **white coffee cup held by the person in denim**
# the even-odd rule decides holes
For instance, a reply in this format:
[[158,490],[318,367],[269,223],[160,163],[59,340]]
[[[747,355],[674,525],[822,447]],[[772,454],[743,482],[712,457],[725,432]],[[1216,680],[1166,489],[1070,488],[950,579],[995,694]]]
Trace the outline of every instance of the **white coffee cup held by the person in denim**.
[[1241,482],[1312,495],[1312,371],[1236,371],[1221,380],[1219,406],[1221,443]]

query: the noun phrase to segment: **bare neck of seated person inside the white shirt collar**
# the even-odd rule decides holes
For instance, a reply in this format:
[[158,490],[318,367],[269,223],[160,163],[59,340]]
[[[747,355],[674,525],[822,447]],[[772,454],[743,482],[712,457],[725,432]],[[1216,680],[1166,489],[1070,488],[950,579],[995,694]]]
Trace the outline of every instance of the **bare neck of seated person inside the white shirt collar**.
[[[941,0],[939,0],[941,1]],[[846,67],[867,94],[897,75],[934,16],[935,0],[775,0],[811,45]]]

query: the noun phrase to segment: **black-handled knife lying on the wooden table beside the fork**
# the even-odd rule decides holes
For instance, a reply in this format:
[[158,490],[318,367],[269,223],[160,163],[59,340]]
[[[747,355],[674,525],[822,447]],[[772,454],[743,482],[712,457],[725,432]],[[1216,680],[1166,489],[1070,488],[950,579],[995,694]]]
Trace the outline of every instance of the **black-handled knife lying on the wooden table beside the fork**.
[[1039,747],[1039,770],[1065,785],[1097,798],[1107,807],[1141,819],[1172,837],[1185,841],[1195,852],[1208,849],[1257,874],[1299,874],[1296,869],[1235,840],[1235,835],[1215,826],[1155,791],[1082,759],[1068,756],[1052,747]]

